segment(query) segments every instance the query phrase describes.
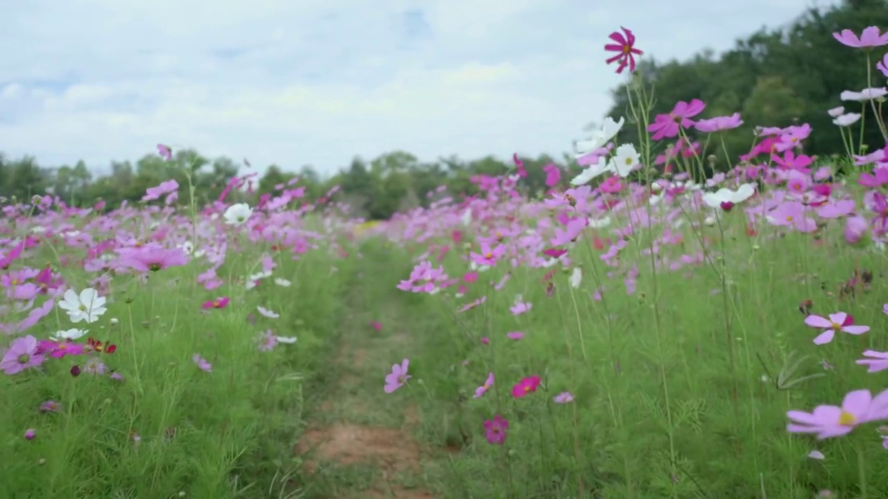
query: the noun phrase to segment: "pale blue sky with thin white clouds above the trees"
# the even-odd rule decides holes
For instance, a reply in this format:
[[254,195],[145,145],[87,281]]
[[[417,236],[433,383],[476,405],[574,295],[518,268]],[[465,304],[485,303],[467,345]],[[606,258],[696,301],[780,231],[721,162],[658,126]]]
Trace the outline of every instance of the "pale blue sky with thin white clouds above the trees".
[[326,175],[392,150],[559,155],[621,82],[612,31],[685,59],[831,3],[8,1],[0,151],[101,172],[163,143]]

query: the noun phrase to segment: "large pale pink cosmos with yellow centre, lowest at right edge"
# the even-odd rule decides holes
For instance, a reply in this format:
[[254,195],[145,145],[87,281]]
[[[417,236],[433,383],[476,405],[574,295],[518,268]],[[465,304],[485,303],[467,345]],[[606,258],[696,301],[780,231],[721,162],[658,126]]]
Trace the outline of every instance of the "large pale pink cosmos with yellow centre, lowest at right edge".
[[813,412],[791,410],[791,433],[815,433],[820,440],[847,435],[855,426],[888,419],[888,390],[874,398],[868,390],[848,392],[842,407],[818,406]]

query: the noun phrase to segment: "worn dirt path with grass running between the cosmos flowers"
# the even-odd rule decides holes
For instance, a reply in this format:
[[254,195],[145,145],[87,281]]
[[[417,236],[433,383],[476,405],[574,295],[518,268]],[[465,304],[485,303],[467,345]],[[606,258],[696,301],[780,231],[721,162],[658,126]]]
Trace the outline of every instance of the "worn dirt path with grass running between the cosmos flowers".
[[432,499],[413,436],[416,409],[404,393],[383,392],[388,368],[410,352],[410,337],[398,329],[405,323],[399,305],[361,282],[350,293],[342,347],[329,367],[338,379],[297,445],[305,497]]

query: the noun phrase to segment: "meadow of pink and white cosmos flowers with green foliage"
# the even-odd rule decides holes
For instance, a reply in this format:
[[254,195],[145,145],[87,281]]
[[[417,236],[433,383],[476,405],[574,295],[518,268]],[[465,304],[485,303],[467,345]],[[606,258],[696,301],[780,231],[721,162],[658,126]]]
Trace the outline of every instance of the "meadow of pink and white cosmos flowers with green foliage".
[[140,202],[5,200],[0,497],[888,497],[888,32],[831,42],[833,126],[734,157],[614,31],[630,105],[543,195],[204,203],[159,145]]

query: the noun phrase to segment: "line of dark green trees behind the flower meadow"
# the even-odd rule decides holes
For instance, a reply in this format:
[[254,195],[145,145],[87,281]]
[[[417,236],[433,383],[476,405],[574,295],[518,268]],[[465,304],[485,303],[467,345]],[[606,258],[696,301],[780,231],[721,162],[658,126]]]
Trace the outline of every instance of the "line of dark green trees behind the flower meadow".
[[[828,9],[808,9],[787,26],[762,28],[738,40],[733,49],[719,56],[710,50],[683,61],[661,62],[645,56],[638,67],[640,80],[614,89],[614,106],[608,115],[627,117],[629,123],[623,127],[620,140],[638,144],[643,127],[632,121],[627,85],[640,81],[646,85],[646,91],[655,94],[652,116],[670,112],[679,100],[691,99],[707,103],[698,117],[740,112],[744,120],[741,129],[725,135],[725,147],[731,157],[749,151],[754,127],[799,122],[811,123],[815,129],[806,143],[806,154],[841,153],[842,139],[838,131],[832,130],[835,125],[827,110],[843,104],[838,100],[842,91],[883,86],[884,79],[872,68],[868,71],[864,51],[844,47],[836,42],[832,33],[845,28],[859,33],[873,25],[888,28],[888,0],[846,0]],[[639,44],[643,44],[643,40]],[[872,64],[883,53],[884,50],[871,52]],[[882,147],[884,140],[876,127],[871,126],[865,142],[872,147]],[[664,150],[666,144],[655,147]],[[662,154],[663,150],[657,152]],[[520,185],[527,194],[541,194],[546,190],[543,167],[550,163],[562,171],[565,179],[577,171],[571,154],[520,159],[527,170],[527,177]],[[190,171],[180,165],[188,165]],[[715,168],[725,170],[729,166],[723,162]],[[185,186],[190,176],[195,201],[203,204],[218,199],[233,178],[249,173],[250,168],[248,163],[231,158],[208,158],[194,150],[181,150],[175,152],[173,161],[167,161],[160,154],[147,154],[136,162],[112,162],[110,173],[94,176],[82,161],[73,166],[44,167],[31,156],[12,159],[0,154],[0,196],[27,200],[35,194],[52,193],[68,205],[93,205],[101,200],[108,207],[115,207],[123,201],[138,202],[148,187],[169,178]],[[370,160],[355,157],[329,177],[322,177],[311,166],[286,171],[270,165],[261,177],[250,179],[250,192],[239,190],[236,195],[246,201],[256,201],[262,194],[274,193],[275,186],[298,178],[297,185],[305,187],[305,199],[301,202],[315,202],[330,187],[340,186],[337,195],[361,215],[388,218],[395,211],[427,205],[439,186],[445,186],[450,195],[477,194],[472,178],[500,175],[513,169],[511,160],[492,155],[476,160],[450,156],[435,162],[421,162],[408,152],[393,151]],[[190,202],[186,191],[181,190],[178,202]]]

